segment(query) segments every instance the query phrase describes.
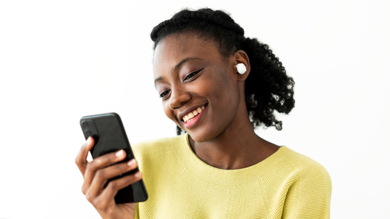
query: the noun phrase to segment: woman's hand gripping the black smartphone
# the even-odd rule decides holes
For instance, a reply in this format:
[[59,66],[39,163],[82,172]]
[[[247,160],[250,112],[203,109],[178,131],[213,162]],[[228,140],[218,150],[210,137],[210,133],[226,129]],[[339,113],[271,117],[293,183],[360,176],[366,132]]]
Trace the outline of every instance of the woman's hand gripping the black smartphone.
[[110,181],[106,187],[104,185],[108,179],[135,169],[137,167],[135,159],[110,165],[125,158],[125,151],[118,150],[88,162],[86,156],[93,144],[93,138],[88,137],[75,160],[84,177],[84,183],[81,187],[82,193],[85,194],[86,199],[92,203],[102,218],[134,218],[136,203],[116,204],[114,197],[119,189],[140,180],[141,173],[135,172],[125,175]]

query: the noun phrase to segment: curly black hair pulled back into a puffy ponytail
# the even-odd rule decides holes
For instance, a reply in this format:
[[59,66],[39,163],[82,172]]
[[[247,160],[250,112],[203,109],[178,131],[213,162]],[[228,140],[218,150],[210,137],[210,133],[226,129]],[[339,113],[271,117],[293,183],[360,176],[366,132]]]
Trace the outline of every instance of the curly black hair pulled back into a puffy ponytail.
[[[156,25],[150,37],[153,49],[166,36],[178,32],[194,32],[211,39],[218,45],[222,56],[227,57],[241,49],[250,61],[250,73],[245,80],[246,108],[253,128],[263,124],[282,129],[282,123],[274,114],[288,114],[294,107],[294,80],[287,76],[279,59],[267,44],[256,38],[244,37],[241,26],[224,11],[201,8],[183,9]],[[177,126],[177,134],[182,130]]]

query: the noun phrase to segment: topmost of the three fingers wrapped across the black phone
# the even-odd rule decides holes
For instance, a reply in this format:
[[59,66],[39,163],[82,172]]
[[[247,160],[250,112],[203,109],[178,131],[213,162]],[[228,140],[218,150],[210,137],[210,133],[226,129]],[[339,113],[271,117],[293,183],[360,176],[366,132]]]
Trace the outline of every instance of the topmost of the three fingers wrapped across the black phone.
[[[98,170],[107,167],[112,163],[119,162],[125,158],[126,154],[124,150],[118,150],[112,153],[106,153],[101,155],[92,161],[90,161],[85,168],[84,172],[84,183],[82,184],[81,191],[85,194],[85,192],[89,189],[89,186],[92,183],[93,178]],[[120,173],[119,173],[120,174]],[[118,175],[119,175],[118,174]],[[108,179],[108,178],[107,178]],[[99,180],[100,182],[102,180]],[[104,182],[105,183],[105,182]],[[104,185],[104,184],[103,184]]]

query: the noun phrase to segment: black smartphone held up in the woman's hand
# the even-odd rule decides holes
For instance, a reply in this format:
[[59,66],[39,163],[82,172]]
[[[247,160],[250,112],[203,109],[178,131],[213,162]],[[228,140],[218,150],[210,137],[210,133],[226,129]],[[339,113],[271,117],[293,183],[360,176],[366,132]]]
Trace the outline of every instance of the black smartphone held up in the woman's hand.
[[[118,114],[111,112],[83,116],[80,119],[80,125],[85,139],[92,136],[95,140],[95,144],[90,150],[93,159],[105,153],[114,152],[120,149],[126,151],[126,158],[121,162],[126,162],[134,158],[134,154],[131,151],[130,143],[128,142],[126,132],[124,131],[122,121]],[[138,171],[138,167],[132,171],[111,178],[110,180],[117,179],[123,175],[131,174],[136,171]],[[120,189],[115,195],[116,203],[139,202],[145,201],[146,199],[147,192],[142,179]]]

